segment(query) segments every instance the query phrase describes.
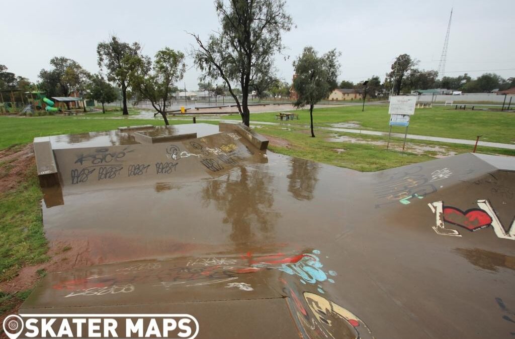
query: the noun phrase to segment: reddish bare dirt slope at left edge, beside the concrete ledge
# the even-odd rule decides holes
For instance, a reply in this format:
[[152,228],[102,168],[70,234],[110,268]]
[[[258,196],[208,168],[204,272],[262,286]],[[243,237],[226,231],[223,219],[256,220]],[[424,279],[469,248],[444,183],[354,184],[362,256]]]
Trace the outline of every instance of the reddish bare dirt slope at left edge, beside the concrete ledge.
[[32,144],[12,146],[0,151],[0,194],[18,186],[35,163]]

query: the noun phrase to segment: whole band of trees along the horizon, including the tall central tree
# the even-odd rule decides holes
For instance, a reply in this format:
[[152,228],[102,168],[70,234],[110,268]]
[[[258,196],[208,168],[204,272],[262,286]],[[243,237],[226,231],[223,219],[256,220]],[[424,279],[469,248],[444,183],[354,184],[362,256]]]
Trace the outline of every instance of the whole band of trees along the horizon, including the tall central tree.
[[[343,80],[337,83],[336,77],[331,77],[330,82],[323,83],[329,80],[309,78],[309,86],[321,86],[315,91],[315,88],[302,87],[306,84],[306,78],[288,83],[277,76],[274,57],[285,49],[282,34],[294,27],[293,20],[286,12],[285,0],[216,0],[214,5],[218,30],[213,30],[207,39],[195,32],[189,33],[195,42],[189,54],[194,66],[201,72],[199,90],[209,91],[215,100],[219,96],[232,96],[245,124],[249,124],[249,96],[289,99],[292,87],[297,93],[297,88],[307,88],[309,91],[304,92],[303,99],[299,99],[296,104],[309,105],[311,108],[314,102],[327,98],[336,87],[354,88],[356,92],[364,94],[363,82]],[[294,63],[297,78],[297,71],[306,69],[306,65],[316,65],[317,74],[325,74],[329,72],[328,64],[338,64],[335,60],[330,61],[339,55],[336,51],[319,56],[313,48],[306,48]],[[41,70],[37,84],[31,84],[26,78],[16,76],[8,72],[6,66],[0,65],[0,90],[20,88],[26,91],[38,88],[49,97],[70,96],[79,92],[84,98],[101,102],[102,106],[106,102],[121,99],[124,115],[128,114],[129,98],[135,102],[146,100],[155,108],[156,114],[161,114],[165,123],[168,123],[166,110],[179,91],[176,84],[182,80],[186,67],[182,52],[164,47],[155,56],[149,57],[142,54],[139,43],[123,42],[112,36],[98,43],[96,54],[99,67],[97,74],[90,74],[75,60],[54,57],[50,59],[50,68]],[[435,70],[420,69],[418,65],[419,61],[409,55],[399,55],[383,81],[376,75],[368,78],[367,97],[431,88],[470,93],[515,86],[514,78],[504,79],[491,73],[476,79],[468,74],[438,79]],[[217,84],[213,85],[213,82]],[[327,95],[321,97],[321,93],[326,92]]]

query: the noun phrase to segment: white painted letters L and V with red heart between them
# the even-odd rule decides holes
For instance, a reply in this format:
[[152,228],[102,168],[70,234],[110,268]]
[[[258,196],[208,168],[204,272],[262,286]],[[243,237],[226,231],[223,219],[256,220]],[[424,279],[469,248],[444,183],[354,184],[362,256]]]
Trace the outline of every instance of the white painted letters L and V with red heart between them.
[[456,207],[444,206],[443,201],[427,204],[436,215],[436,226],[432,228],[442,236],[461,237],[459,231],[445,227],[445,222],[461,226],[470,231],[492,226],[495,235],[501,239],[515,240],[515,217],[508,231],[503,227],[488,200],[478,200],[479,208],[461,211]]

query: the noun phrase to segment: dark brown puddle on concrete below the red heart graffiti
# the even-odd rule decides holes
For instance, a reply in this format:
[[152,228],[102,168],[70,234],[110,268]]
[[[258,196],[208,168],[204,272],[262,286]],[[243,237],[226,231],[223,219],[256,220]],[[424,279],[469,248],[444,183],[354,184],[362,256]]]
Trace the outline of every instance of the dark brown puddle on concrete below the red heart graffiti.
[[480,248],[455,248],[454,251],[471,264],[482,269],[499,272],[499,267],[515,270],[515,257]]

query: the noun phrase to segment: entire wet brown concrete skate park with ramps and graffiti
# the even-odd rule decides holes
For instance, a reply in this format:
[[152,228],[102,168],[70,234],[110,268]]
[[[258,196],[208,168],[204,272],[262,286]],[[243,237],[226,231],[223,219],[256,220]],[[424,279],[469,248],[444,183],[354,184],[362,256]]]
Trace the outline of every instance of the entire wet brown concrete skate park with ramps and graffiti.
[[35,150],[46,236],[88,246],[20,313],[187,313],[199,338],[515,332],[513,158],[362,173],[274,154],[223,123]]

